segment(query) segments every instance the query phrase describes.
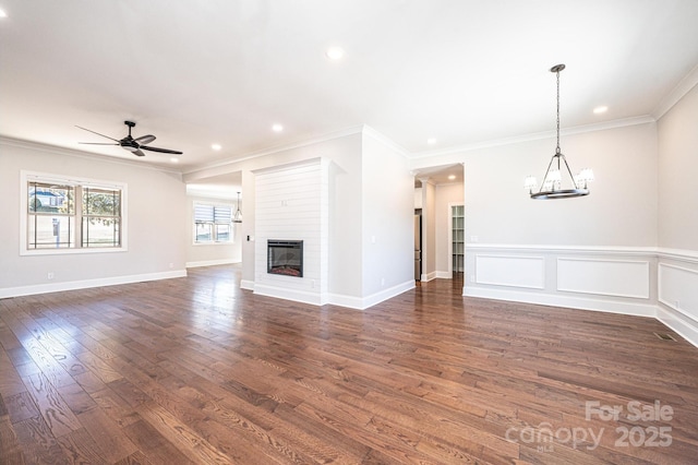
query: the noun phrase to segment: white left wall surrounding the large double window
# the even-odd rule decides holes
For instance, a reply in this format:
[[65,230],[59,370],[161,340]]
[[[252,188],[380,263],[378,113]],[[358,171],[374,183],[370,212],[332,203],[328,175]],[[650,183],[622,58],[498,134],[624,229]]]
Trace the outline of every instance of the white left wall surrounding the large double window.
[[[0,140],[0,297],[185,275],[185,187],[179,174]],[[128,251],[20,255],[20,171],[128,184]],[[47,273],[53,279],[47,279]]]

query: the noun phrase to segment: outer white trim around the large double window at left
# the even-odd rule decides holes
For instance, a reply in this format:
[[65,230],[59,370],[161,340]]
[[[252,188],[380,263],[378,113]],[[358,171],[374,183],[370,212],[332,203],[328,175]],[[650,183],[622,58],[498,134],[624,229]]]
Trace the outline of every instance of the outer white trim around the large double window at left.
[[[110,248],[65,248],[65,249],[27,249],[27,184],[32,181],[56,182],[65,186],[85,186],[121,190],[121,247]],[[104,181],[98,179],[76,178],[37,171],[20,170],[20,255],[63,255],[73,253],[115,253],[127,252],[128,247],[128,192],[125,182]]]

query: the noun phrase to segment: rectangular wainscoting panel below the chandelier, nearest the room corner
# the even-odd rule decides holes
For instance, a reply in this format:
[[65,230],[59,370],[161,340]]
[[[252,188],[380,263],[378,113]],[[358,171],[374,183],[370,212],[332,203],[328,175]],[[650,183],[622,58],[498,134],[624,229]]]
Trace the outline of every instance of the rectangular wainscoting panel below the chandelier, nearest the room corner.
[[558,258],[557,290],[649,299],[650,263],[637,260]]

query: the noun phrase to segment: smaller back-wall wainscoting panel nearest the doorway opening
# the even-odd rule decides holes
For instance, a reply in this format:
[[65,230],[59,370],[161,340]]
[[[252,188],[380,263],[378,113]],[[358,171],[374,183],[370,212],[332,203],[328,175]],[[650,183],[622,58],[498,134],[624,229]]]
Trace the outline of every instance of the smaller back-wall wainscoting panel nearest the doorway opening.
[[542,257],[476,255],[476,283],[494,286],[545,287],[545,260]]

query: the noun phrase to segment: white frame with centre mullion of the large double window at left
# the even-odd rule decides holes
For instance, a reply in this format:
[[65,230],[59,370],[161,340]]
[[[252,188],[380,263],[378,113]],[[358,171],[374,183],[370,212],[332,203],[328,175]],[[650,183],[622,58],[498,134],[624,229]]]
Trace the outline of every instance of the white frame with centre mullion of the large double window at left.
[[[77,191],[82,191],[82,188],[89,189],[107,189],[107,190],[119,190],[121,193],[120,199],[120,207],[121,207],[121,216],[119,217],[119,233],[120,233],[120,245],[118,247],[85,247],[83,246],[83,241],[81,240],[80,235],[71,238],[72,247],[67,248],[39,248],[39,249],[31,249],[29,248],[29,208],[28,208],[28,190],[29,184],[33,182],[37,183],[52,183],[59,186],[70,186],[75,189],[74,196],[76,198]],[[82,193],[82,192],[81,192]],[[82,195],[81,195],[82,198]],[[83,216],[81,200],[74,200],[75,204],[73,205],[73,214],[65,215],[69,218],[72,218],[74,228],[82,227]],[[75,178],[68,177],[55,174],[47,172],[37,172],[37,171],[20,171],[20,255],[61,255],[61,254],[74,254],[74,253],[115,253],[115,252],[125,252],[129,250],[128,248],[128,184],[125,182],[118,181],[105,181],[97,179],[87,179],[87,178]]]

